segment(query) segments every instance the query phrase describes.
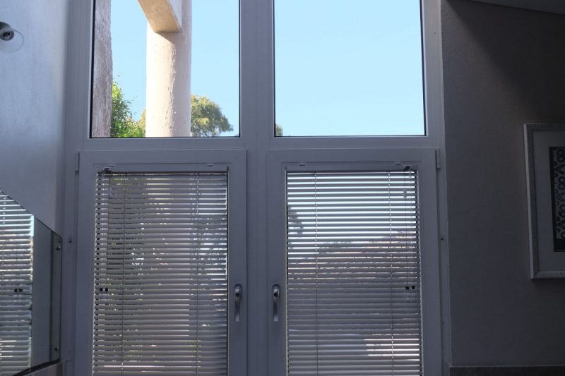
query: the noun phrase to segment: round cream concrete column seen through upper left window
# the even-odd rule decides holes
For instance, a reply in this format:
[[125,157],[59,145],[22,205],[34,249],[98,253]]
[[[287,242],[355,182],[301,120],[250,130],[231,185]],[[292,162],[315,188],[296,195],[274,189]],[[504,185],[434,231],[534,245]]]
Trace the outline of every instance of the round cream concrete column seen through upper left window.
[[170,8],[179,13],[182,30],[155,32],[152,17],[144,8],[145,16],[148,16],[146,137],[186,137],[191,134],[192,0],[167,1]]

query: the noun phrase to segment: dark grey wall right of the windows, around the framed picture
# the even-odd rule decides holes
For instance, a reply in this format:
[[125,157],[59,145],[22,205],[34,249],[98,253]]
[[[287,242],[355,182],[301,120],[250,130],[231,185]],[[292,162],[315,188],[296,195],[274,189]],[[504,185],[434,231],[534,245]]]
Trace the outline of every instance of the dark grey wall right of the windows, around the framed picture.
[[565,363],[565,281],[531,281],[524,123],[565,123],[565,16],[442,0],[454,365]]

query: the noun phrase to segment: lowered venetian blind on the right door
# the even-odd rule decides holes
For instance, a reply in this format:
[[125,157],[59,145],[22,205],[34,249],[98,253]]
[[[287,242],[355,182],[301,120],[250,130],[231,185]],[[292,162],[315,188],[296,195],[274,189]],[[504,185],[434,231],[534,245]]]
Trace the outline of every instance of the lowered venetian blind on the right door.
[[421,375],[414,171],[287,174],[290,376]]

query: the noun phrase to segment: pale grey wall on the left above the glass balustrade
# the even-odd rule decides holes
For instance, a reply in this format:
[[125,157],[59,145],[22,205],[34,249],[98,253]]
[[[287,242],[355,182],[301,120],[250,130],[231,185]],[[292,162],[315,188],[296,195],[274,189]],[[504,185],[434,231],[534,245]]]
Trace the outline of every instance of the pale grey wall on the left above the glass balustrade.
[[0,52],[0,190],[61,232],[67,0],[0,0],[0,21],[22,32]]

